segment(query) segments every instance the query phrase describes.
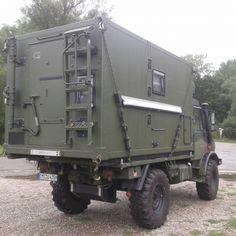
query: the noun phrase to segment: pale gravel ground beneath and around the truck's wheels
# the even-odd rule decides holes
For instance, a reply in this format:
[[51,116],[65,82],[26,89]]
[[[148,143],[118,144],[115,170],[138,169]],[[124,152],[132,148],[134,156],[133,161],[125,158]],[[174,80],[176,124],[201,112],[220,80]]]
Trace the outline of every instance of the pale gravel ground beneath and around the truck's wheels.
[[92,201],[75,216],[58,211],[51,198],[48,182],[0,177],[0,235],[236,235],[236,175],[221,177],[218,197],[210,202],[198,199],[194,183],[171,186],[168,219],[152,231],[135,225],[124,193],[116,204]]

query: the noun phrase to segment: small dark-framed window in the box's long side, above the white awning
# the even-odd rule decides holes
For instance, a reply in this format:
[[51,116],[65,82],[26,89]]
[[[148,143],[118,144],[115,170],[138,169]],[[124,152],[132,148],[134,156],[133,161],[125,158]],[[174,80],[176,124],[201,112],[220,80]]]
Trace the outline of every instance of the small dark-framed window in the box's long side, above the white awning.
[[152,92],[158,95],[165,95],[165,74],[158,70],[152,71]]

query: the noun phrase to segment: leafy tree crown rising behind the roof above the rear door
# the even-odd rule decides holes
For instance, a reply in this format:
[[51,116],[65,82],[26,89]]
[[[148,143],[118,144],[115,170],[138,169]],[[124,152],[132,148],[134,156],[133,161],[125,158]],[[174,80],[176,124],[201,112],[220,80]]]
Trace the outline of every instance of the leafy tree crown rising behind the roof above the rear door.
[[105,0],[32,0],[22,8],[24,17],[18,25],[21,33],[32,32],[108,15],[109,10]]

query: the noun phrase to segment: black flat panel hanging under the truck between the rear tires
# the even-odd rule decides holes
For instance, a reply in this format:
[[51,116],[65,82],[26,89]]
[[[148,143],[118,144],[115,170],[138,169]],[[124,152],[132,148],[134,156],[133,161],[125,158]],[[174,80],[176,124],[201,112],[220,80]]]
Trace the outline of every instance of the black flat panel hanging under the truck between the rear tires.
[[116,202],[116,188],[113,185],[71,184],[71,192],[84,199]]

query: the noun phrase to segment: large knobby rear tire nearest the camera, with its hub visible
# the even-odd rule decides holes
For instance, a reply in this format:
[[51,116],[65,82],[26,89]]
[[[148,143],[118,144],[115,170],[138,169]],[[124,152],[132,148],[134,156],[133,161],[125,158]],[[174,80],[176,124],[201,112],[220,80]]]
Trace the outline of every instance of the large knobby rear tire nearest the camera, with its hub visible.
[[150,169],[142,191],[132,191],[131,215],[141,227],[155,229],[166,221],[170,205],[170,185],[166,174]]

